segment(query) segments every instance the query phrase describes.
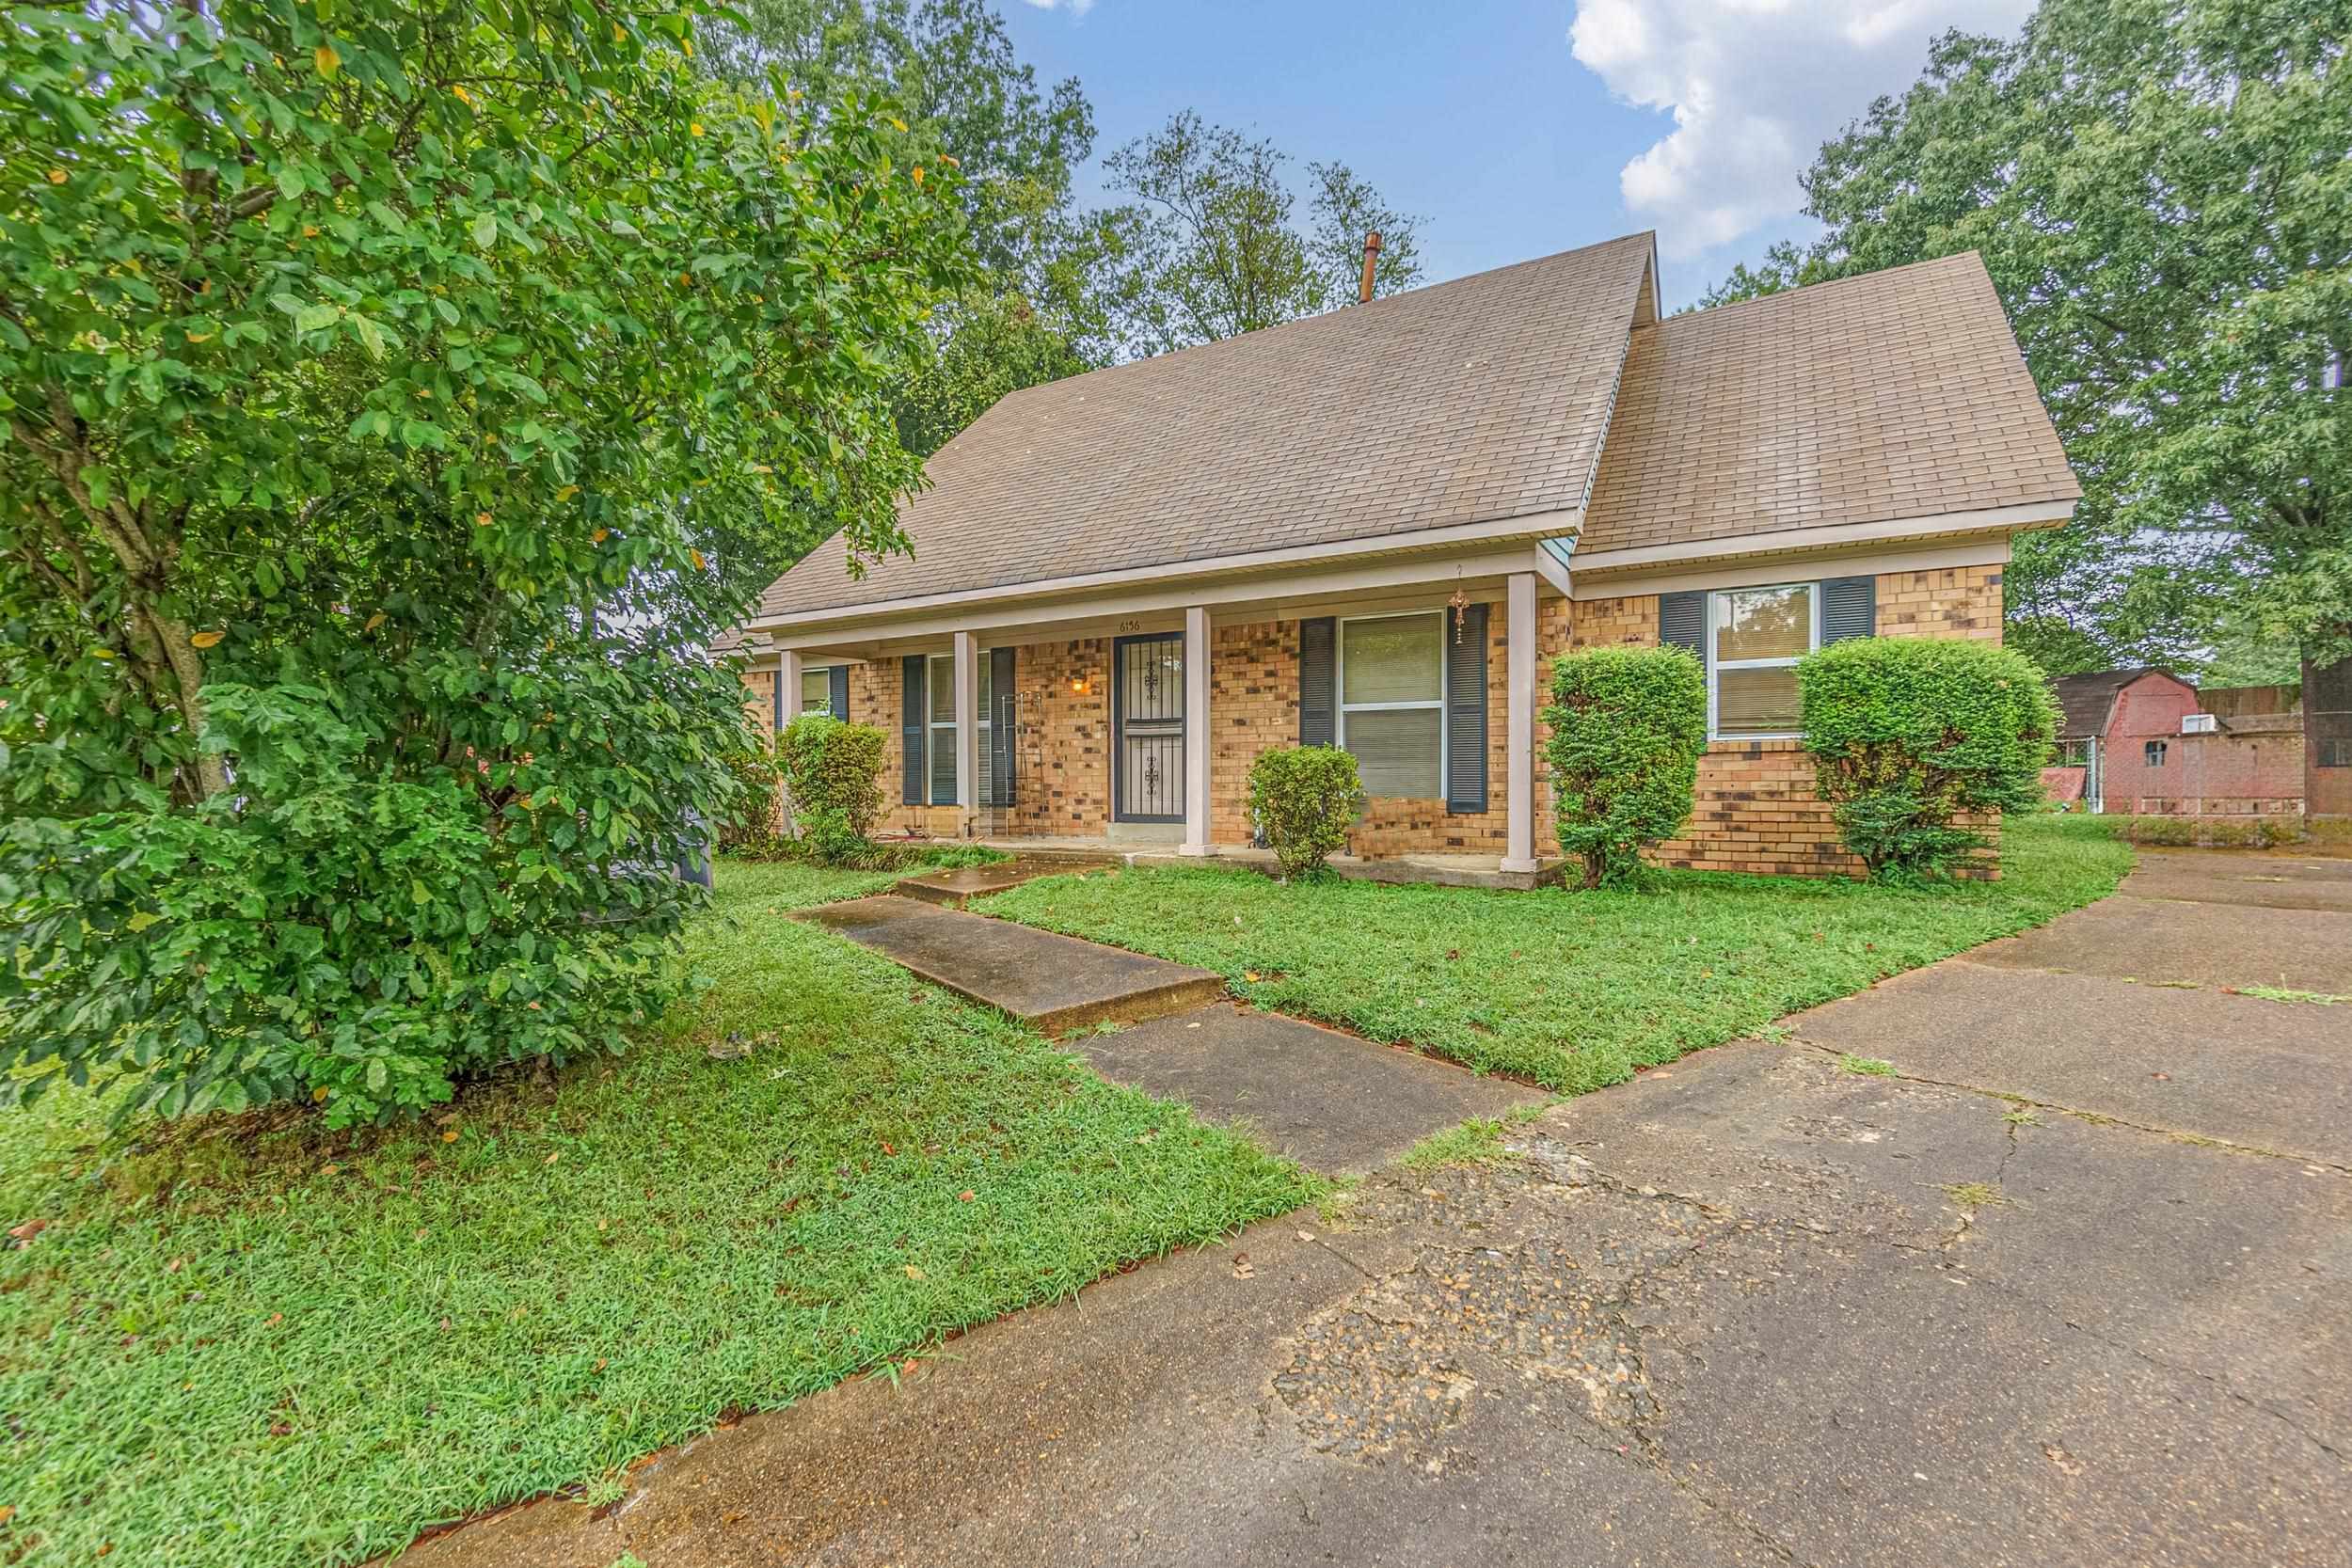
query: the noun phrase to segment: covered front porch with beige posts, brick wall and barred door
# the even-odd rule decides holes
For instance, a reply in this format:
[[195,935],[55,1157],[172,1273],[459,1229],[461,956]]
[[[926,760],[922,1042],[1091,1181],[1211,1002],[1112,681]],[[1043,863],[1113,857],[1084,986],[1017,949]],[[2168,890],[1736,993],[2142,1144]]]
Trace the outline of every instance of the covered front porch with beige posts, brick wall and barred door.
[[771,722],[830,708],[884,729],[894,837],[1136,863],[1270,865],[1251,764],[1343,745],[1369,799],[1341,875],[1534,886],[1538,665],[1545,632],[1552,651],[1566,642],[1566,599],[1529,569],[1536,555],[788,632]]

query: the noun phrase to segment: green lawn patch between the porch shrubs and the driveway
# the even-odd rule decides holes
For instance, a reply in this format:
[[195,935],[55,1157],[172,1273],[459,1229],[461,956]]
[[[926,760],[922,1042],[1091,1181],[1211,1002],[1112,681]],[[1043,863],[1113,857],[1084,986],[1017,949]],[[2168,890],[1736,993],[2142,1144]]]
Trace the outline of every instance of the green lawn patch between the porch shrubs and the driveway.
[[1649,893],[1489,893],[1204,867],[1054,877],[976,907],[1576,1093],[2042,924],[2131,867],[2098,818],[2016,818],[2004,849],[2002,882],[1931,891],[1672,872]]

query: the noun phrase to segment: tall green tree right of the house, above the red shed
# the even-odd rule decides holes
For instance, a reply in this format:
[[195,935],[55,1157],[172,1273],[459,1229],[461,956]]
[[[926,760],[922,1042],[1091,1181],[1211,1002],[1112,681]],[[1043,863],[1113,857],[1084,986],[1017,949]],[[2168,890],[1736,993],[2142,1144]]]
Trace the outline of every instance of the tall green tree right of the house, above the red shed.
[[1983,252],[2086,491],[2009,571],[2051,668],[2194,658],[2211,614],[2352,649],[2347,40],[2347,0],[1945,35],[1804,176],[1825,235],[1710,296]]

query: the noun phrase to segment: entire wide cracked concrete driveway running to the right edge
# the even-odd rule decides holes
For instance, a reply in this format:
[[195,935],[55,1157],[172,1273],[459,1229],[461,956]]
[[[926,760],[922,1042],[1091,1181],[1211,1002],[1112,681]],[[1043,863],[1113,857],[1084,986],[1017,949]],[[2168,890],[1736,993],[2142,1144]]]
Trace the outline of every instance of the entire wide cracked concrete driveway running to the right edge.
[[2314,865],[2150,856],[407,1561],[2352,1563],[2352,1006],[2218,990],[2352,990]]

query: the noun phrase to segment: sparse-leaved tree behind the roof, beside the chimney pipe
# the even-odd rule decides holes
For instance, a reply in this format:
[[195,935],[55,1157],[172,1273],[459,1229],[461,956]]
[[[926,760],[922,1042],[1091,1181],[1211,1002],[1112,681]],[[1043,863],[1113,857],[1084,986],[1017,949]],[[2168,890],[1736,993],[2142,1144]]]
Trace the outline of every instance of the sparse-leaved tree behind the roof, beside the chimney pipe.
[[1364,235],[1381,233],[1376,294],[1421,277],[1416,221],[1343,162],[1310,162],[1294,223],[1289,155],[1192,110],[1103,160],[1131,205],[1096,228],[1098,292],[1129,353],[1230,339],[1357,299]]

